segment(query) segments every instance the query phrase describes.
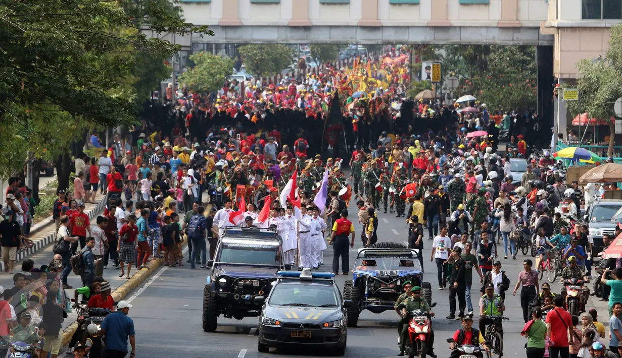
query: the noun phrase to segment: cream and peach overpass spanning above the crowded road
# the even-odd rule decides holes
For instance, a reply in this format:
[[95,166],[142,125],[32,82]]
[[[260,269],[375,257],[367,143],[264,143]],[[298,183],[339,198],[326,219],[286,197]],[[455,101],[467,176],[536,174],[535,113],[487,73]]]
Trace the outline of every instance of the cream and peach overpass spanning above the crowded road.
[[181,0],[194,43],[553,45],[548,0]]

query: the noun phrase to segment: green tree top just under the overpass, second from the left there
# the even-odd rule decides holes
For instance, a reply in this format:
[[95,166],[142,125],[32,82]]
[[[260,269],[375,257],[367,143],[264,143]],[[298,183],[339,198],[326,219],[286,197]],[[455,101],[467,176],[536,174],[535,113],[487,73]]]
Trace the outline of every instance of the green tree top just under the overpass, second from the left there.
[[279,74],[292,63],[292,49],[287,45],[244,45],[238,51],[248,72],[259,77]]

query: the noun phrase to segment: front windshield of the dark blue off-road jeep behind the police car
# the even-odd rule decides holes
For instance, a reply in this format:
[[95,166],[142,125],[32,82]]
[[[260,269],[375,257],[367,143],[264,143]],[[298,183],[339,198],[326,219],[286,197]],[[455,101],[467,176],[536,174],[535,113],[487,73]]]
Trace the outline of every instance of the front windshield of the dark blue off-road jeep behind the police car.
[[279,265],[279,246],[226,243],[220,253],[220,262]]

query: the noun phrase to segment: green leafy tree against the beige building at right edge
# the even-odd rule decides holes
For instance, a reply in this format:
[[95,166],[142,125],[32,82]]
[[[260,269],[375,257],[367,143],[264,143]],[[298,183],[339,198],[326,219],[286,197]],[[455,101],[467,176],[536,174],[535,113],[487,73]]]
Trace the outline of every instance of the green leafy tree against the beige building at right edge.
[[572,117],[586,113],[588,118],[604,120],[609,125],[608,156],[613,156],[615,143],[615,116],[613,102],[622,97],[622,25],[611,27],[609,48],[605,60],[581,60],[577,64],[577,89],[581,99],[567,101]]

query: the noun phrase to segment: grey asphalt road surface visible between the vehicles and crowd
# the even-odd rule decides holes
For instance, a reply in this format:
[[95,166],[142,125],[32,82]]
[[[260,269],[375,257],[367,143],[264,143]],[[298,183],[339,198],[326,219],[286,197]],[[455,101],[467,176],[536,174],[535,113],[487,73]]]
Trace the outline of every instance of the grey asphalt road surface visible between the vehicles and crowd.
[[[350,212],[355,213],[353,201]],[[379,214],[380,223],[378,229],[379,241],[406,241],[406,226],[404,218],[396,218],[391,214]],[[356,230],[360,230],[356,225]],[[357,233],[358,235],[358,233]],[[351,266],[360,248],[360,240],[355,241],[355,248],[351,249]],[[431,241],[425,241],[425,274],[424,279],[432,282],[433,301],[437,302],[434,311],[437,318],[434,320],[436,333],[435,349],[439,357],[447,357],[449,350],[445,339],[452,336],[458,329],[459,321],[446,320],[449,313],[447,290],[437,290],[436,270],[430,262]],[[501,250],[502,247],[499,248]],[[503,270],[506,270],[511,280],[511,286],[516,284],[518,272],[522,270],[522,254],[516,260],[503,259],[503,253],[499,251]],[[531,258],[531,256],[529,256]],[[325,265],[322,271],[330,271],[332,262],[332,249],[325,251]],[[216,333],[204,333],[202,330],[202,294],[207,270],[190,270],[188,266],[163,268],[152,277],[137,293],[139,296],[133,300],[134,307],[129,315],[133,318],[137,334],[136,357],[268,357],[274,355],[259,354],[257,352],[256,327],[257,318],[245,318],[244,320],[231,320],[220,317]],[[337,282],[343,287],[347,276],[338,276]],[[477,295],[480,289],[479,280],[474,280],[473,295]],[[560,285],[553,285],[554,292],[559,292]],[[136,295],[136,293],[134,293]],[[592,300],[592,298],[590,298]],[[474,305],[477,301],[474,300]],[[600,302],[599,302],[600,303]],[[588,307],[595,303],[590,302]],[[506,316],[509,321],[504,321],[506,345],[504,351],[506,357],[524,357],[525,339],[519,332],[524,325],[520,307],[519,295],[511,295],[506,298],[508,311]],[[604,307],[600,305],[599,307]],[[477,308],[476,308],[477,310]],[[606,316],[606,309],[599,309]],[[388,311],[374,315],[368,311],[361,313],[357,328],[348,329],[348,348],[346,356],[356,358],[366,357],[389,357],[396,356],[398,349],[396,344],[396,313]],[[605,320],[606,321],[606,320]],[[283,352],[279,352],[283,354]],[[323,356],[323,352],[317,351],[287,351],[287,356],[311,357]]]

